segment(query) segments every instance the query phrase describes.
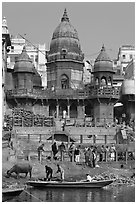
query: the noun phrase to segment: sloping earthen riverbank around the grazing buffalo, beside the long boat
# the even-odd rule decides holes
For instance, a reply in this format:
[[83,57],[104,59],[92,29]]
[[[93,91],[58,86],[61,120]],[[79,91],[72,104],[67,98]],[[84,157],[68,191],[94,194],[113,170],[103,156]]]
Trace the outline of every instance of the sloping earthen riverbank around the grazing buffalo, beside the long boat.
[[[21,161],[18,162],[27,162]],[[20,174],[20,178],[17,180],[16,176],[13,174],[10,178],[7,177],[6,171],[10,169],[15,161],[3,161],[2,164],[2,186],[23,186],[29,177],[24,178],[24,174]],[[101,179],[115,179],[113,185],[117,184],[135,184],[135,161],[128,161],[126,164],[124,161],[119,162],[101,162],[98,163],[98,167],[91,168],[86,166],[84,163],[76,164],[75,162],[70,161],[50,161],[43,160],[42,163],[39,163],[36,159],[31,160],[29,163],[32,164],[32,178],[42,179],[45,177],[45,165],[51,166],[53,168],[53,179],[59,179],[60,175],[56,174],[57,171],[57,163],[59,163],[65,170],[65,180],[68,181],[76,181],[86,179],[86,173],[89,173],[96,180]]]

